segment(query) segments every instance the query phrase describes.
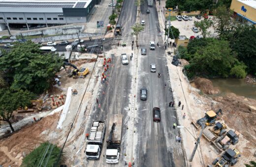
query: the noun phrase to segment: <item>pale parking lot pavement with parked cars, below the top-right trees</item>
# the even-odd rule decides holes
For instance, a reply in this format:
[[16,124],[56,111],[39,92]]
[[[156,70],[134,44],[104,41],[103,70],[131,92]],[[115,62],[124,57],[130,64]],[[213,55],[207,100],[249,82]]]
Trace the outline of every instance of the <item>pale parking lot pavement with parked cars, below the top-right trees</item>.
[[[213,16],[210,16],[209,19],[212,19]],[[175,28],[179,28],[180,30],[180,35],[185,35],[188,38],[190,38],[191,36],[196,36],[196,35],[201,35],[201,32],[199,31],[198,33],[194,33],[192,31],[192,28],[194,27],[194,21],[202,21],[204,20],[204,18],[201,18],[200,20],[196,19],[194,16],[192,16],[192,20],[188,20],[188,21],[172,21],[171,25]],[[199,28],[198,28],[199,29]],[[214,29],[213,28],[209,28],[210,31],[210,37],[215,37],[217,35],[217,33],[214,33]]]

